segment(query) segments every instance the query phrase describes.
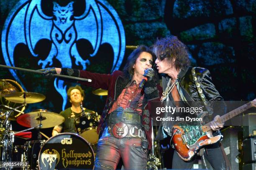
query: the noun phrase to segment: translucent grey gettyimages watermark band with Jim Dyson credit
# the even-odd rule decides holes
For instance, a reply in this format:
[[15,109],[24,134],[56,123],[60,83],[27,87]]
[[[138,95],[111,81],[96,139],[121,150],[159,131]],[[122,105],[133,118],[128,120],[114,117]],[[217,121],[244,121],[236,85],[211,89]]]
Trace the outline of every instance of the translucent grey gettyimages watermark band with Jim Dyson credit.
[[169,101],[151,102],[149,112],[153,125],[175,125],[179,122],[208,123],[214,116],[220,115],[225,120],[225,126],[248,126],[250,114],[255,114],[253,101],[208,101],[207,106],[203,101]]

